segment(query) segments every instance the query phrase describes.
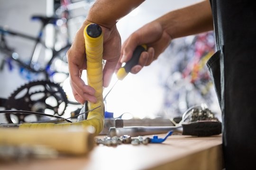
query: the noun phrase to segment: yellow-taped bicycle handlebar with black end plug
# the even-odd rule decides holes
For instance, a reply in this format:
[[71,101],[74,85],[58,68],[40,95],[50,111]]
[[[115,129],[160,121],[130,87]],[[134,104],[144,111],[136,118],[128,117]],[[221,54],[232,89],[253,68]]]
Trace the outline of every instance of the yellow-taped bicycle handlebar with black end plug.
[[101,27],[97,24],[89,24],[84,28],[85,52],[87,59],[87,81],[88,85],[96,91],[96,103],[88,102],[88,110],[95,110],[88,113],[87,119],[73,123],[24,123],[19,128],[47,128],[47,127],[70,127],[73,125],[95,128],[95,134],[101,133],[104,126],[104,103],[103,103],[103,72],[102,72],[102,54],[103,54],[103,34]]

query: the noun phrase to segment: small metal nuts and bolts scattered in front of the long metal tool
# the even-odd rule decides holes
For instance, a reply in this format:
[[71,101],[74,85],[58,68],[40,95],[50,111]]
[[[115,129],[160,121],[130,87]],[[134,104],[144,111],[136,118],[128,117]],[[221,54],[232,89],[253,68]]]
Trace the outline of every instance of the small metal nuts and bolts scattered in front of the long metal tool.
[[137,137],[131,137],[128,135],[124,136],[105,136],[103,139],[95,139],[95,143],[97,145],[103,144],[105,146],[117,146],[119,144],[132,144],[132,145],[138,145],[138,144],[148,144],[150,143],[151,139],[149,137],[143,137],[143,136],[137,136]]

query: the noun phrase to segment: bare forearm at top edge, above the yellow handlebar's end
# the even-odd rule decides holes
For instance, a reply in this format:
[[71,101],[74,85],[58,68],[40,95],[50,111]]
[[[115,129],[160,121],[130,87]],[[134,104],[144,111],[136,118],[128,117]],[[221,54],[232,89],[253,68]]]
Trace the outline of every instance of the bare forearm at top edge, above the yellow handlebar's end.
[[144,0],[97,0],[87,20],[111,28],[118,20],[137,8]]

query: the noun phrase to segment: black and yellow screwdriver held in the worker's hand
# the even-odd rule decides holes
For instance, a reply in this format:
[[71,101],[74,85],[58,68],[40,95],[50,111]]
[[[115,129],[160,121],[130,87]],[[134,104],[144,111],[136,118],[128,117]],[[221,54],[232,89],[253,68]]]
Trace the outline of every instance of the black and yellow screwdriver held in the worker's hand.
[[108,94],[111,92],[111,90],[113,89],[113,87],[117,84],[117,82],[119,80],[123,80],[131,71],[131,68],[133,68],[134,66],[136,66],[138,64],[139,61],[139,57],[140,54],[143,51],[146,51],[147,47],[146,45],[138,45],[136,47],[136,49],[133,51],[132,54],[132,58],[121,68],[119,68],[118,72],[117,72],[117,78],[118,80],[115,82],[115,84],[111,87],[110,91],[105,95],[105,97],[103,98],[103,101],[106,100],[106,97],[108,96]]

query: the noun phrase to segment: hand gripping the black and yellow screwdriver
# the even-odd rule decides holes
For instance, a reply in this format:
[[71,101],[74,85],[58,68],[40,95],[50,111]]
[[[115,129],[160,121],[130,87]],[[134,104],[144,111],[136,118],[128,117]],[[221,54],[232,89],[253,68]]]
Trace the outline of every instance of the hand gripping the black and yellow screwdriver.
[[147,51],[141,53],[138,65],[131,69],[131,73],[136,74],[141,68],[150,65],[152,61],[157,59],[157,57],[165,51],[171,39],[171,36],[165,32],[157,19],[146,24],[131,34],[123,43],[116,71],[121,67],[123,62],[127,62],[131,59],[132,53],[138,45],[146,44],[148,48]]

